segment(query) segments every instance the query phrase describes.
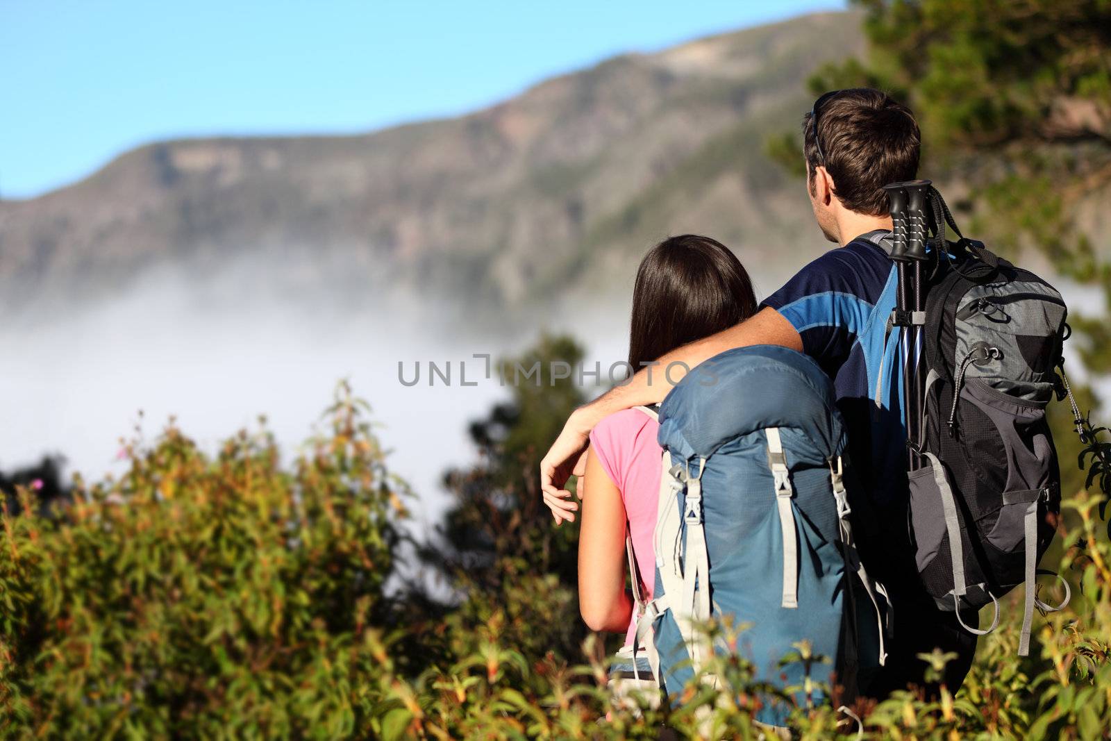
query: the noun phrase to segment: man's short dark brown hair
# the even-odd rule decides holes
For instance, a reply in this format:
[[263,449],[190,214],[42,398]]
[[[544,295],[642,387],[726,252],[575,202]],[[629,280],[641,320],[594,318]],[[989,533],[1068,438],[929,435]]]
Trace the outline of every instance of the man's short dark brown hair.
[[844,208],[869,216],[885,214],[888,194],[883,186],[913,180],[918,173],[921,134],[914,114],[891,96],[871,88],[827,93],[812,114],[818,118],[817,130],[811,113],[802,121],[810,192],[814,188],[814,168],[824,166],[833,179],[833,194]]

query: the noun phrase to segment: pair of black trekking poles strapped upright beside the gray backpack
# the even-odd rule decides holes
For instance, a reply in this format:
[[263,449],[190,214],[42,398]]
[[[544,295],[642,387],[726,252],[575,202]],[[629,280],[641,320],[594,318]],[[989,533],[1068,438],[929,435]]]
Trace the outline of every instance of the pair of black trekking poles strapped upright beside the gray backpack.
[[922,290],[922,262],[927,259],[927,200],[929,180],[909,180],[884,186],[890,202],[891,259],[899,274],[899,292],[892,326],[900,328],[903,357],[903,419],[907,423],[909,470],[921,465],[918,439],[923,414],[922,326],[925,324],[925,297]]

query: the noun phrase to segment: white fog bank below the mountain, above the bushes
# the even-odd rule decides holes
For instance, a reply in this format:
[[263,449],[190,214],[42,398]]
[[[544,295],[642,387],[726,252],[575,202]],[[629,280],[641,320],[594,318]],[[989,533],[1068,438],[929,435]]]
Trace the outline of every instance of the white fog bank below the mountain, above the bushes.
[[[458,308],[420,312],[371,298],[362,308],[321,297],[198,289],[172,273],[150,276],[113,300],[81,311],[22,317],[0,328],[0,468],[44,453],[67,459],[67,472],[96,480],[120,472],[120,439],[140,425],[152,439],[172,415],[203,449],[267,418],[286,460],[308,439],[340,379],[372,408],[376,432],[391,451],[390,469],[420,497],[416,530],[439,520],[446,503],[440,479],[467,464],[474,450],[467,425],[509,395],[481,378],[484,361],[519,352],[540,328],[483,327]],[[624,309],[580,309],[582,320],[548,317],[603,363],[624,354]],[[453,367],[451,383],[429,384],[428,363]],[[421,366],[421,380],[407,387]],[[467,363],[461,385],[460,363]],[[140,415],[140,410],[142,414]]]

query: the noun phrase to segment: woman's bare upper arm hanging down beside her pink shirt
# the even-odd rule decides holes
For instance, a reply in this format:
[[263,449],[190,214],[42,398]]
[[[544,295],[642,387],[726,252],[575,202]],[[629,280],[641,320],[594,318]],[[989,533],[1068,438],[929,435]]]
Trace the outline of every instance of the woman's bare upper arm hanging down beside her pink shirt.
[[579,611],[591,630],[621,632],[632,618],[632,599],[624,588],[628,515],[621,492],[589,452],[585,478],[591,489],[579,530]]

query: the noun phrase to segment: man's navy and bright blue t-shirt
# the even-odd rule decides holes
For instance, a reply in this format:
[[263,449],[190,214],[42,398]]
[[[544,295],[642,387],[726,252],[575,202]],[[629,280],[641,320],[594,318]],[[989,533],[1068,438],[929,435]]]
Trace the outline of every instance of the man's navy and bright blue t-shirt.
[[833,379],[849,431],[849,454],[870,499],[904,504],[907,431],[902,419],[902,358],[885,342],[895,306],[895,268],[869,232],[821,256],[761,307],[783,316],[803,351]]

